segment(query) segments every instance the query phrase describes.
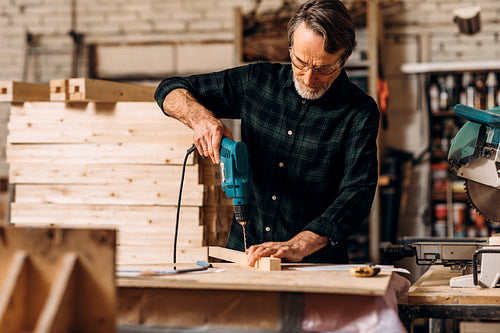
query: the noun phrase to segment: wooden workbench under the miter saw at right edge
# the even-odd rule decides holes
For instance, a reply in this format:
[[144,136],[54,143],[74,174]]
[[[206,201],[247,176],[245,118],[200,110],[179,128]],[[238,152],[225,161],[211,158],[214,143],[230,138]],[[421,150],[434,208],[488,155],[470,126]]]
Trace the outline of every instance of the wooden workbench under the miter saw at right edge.
[[398,305],[408,332],[413,331],[415,318],[500,321],[500,288],[450,287],[450,279],[459,275],[433,265],[410,287]]

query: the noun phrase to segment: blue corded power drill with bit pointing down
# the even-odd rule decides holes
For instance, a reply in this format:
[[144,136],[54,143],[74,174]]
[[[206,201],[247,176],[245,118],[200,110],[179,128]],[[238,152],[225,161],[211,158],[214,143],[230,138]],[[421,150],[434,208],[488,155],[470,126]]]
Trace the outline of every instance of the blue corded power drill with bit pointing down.
[[248,149],[244,142],[223,138],[220,151],[221,187],[233,199],[234,218],[243,228],[243,241],[247,249],[245,226],[248,222]]

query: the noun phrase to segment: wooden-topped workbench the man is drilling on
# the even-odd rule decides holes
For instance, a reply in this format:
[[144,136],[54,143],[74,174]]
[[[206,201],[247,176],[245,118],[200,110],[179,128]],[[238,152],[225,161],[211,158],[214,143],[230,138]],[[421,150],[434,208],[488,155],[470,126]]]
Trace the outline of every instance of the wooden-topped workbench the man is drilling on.
[[348,270],[295,270],[303,266],[262,271],[214,263],[203,273],[118,275],[117,331],[318,332],[357,326],[363,331],[363,325],[403,330],[397,298],[410,286],[405,278],[385,270],[364,278]]

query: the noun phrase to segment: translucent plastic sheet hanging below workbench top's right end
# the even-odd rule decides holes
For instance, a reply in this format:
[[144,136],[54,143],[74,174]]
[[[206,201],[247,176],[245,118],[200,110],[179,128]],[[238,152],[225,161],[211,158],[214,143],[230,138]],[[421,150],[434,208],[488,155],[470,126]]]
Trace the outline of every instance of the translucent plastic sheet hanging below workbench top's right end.
[[314,332],[407,332],[398,315],[398,298],[410,281],[393,274],[385,296],[305,294],[302,329]]

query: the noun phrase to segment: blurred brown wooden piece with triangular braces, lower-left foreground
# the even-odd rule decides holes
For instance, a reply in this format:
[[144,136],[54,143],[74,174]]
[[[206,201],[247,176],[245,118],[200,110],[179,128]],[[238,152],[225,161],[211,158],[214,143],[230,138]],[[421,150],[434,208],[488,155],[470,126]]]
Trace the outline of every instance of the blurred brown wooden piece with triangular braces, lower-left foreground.
[[0,227],[0,331],[113,332],[115,232]]

